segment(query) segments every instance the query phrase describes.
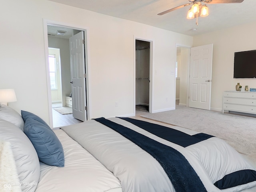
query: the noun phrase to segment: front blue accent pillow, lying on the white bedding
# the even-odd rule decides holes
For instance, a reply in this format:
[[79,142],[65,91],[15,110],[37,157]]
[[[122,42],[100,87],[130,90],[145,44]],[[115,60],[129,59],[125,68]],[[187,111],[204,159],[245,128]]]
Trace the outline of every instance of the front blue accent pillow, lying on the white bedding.
[[52,129],[32,118],[27,118],[24,133],[32,142],[40,161],[48,165],[64,167],[62,144]]

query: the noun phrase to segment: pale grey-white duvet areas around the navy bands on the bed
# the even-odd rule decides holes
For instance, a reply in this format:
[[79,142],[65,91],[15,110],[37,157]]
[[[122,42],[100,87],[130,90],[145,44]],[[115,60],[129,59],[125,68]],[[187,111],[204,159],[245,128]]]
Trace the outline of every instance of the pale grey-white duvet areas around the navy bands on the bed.
[[[219,190],[213,185],[226,174],[244,169],[255,170],[236,150],[219,138],[209,138],[184,148],[158,138],[122,119],[109,118],[109,120],[178,150],[192,165],[208,192],[237,192],[256,186],[256,181],[225,190]],[[176,126],[169,127],[190,135],[198,133]],[[63,127],[62,130],[113,172],[114,176],[120,180],[124,192],[175,191],[163,168],[150,154],[103,124],[90,120]]]

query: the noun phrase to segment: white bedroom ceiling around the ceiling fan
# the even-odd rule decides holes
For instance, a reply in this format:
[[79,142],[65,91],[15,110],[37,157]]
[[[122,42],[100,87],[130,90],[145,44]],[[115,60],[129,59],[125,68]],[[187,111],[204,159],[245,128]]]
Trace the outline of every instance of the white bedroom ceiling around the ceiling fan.
[[[209,16],[196,19],[186,18],[190,6],[169,12],[160,12],[189,3],[188,0],[50,0],[109,16],[123,18],[158,28],[195,36],[222,28],[256,21],[256,0],[242,3],[208,4]],[[196,30],[192,30],[196,29]]]

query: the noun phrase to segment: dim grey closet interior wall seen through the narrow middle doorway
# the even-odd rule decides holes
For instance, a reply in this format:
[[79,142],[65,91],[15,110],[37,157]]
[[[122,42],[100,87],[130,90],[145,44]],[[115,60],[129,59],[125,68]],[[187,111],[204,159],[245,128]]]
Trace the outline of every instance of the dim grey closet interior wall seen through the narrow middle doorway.
[[136,105],[149,106],[150,42],[136,40]]

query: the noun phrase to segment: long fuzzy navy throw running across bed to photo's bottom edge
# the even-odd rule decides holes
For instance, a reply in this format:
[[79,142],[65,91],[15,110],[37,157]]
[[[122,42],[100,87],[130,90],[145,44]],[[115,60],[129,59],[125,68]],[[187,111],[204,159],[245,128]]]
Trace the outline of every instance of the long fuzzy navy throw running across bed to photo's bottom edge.
[[162,166],[177,192],[206,192],[195,170],[176,149],[103,117],[94,120],[120,133],[153,156]]

